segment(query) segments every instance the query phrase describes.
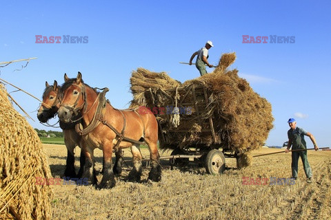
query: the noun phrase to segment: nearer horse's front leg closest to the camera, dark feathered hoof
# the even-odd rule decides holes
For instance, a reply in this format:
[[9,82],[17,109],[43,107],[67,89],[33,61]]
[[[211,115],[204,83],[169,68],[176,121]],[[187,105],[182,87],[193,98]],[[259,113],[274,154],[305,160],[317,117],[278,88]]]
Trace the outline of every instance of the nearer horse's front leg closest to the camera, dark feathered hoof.
[[107,142],[103,146],[103,177],[98,188],[112,188],[116,181],[112,171],[112,142]]

